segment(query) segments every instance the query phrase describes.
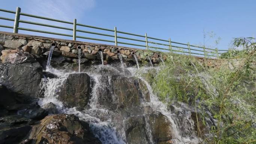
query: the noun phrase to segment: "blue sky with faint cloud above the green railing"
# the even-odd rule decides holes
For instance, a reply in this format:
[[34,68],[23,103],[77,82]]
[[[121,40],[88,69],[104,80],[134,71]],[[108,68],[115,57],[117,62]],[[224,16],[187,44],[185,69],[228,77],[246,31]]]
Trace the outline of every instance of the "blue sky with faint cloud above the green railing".
[[[33,15],[70,22],[76,18],[77,23],[81,24],[109,29],[117,27],[119,31],[141,35],[147,33],[147,36],[166,40],[171,38],[174,42],[190,42],[195,45],[203,45],[205,31],[205,46],[210,48],[228,49],[234,37],[256,36],[256,0],[2,0],[0,8],[15,11],[17,6],[21,7],[21,12]],[[14,19],[14,14],[0,12],[0,16]],[[21,19],[73,28],[72,25],[26,16],[21,16]],[[0,20],[0,24],[13,26],[11,21]],[[21,24],[20,27],[38,26]],[[72,31],[53,28],[37,29],[72,34]],[[0,31],[12,32],[12,29],[0,28]],[[19,33],[60,37],[28,31]],[[90,34],[77,35],[107,39]],[[216,45],[214,41],[218,38],[221,40]],[[109,39],[113,40],[112,37]],[[84,39],[82,41],[92,42]]]

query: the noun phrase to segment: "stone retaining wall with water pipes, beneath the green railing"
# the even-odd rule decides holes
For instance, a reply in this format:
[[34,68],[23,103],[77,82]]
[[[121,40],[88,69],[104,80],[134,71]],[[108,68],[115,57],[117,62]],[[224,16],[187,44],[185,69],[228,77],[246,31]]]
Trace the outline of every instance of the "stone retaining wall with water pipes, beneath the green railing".
[[[59,61],[67,61],[73,63],[78,63],[77,46],[82,46],[81,63],[85,64],[93,63],[95,61],[100,62],[100,55],[98,53],[99,49],[103,51],[104,64],[118,60],[119,57],[117,52],[121,53],[125,62],[135,62],[132,52],[137,55],[138,61],[140,62],[147,61],[147,56],[150,57],[153,63],[160,62],[160,59],[158,58],[159,56],[164,60],[166,58],[164,53],[161,52],[132,49],[122,46],[14,34],[0,31],[1,61],[5,62],[7,60],[5,58],[6,55],[10,53],[16,53],[18,51],[28,52],[41,57],[47,56],[51,47],[51,43],[55,43],[57,45],[54,49],[53,55],[57,56]],[[207,67],[219,67],[221,64],[223,64],[223,60],[204,59],[200,57],[196,58]]]

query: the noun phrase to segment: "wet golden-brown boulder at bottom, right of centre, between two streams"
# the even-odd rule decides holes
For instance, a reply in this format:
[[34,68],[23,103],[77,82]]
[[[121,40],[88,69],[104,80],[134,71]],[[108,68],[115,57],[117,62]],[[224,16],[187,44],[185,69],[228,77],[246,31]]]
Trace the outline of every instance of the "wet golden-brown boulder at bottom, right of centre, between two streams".
[[146,120],[150,125],[155,143],[163,143],[173,138],[171,122],[165,115],[154,111],[146,116]]

